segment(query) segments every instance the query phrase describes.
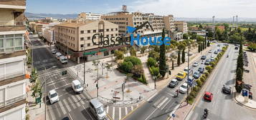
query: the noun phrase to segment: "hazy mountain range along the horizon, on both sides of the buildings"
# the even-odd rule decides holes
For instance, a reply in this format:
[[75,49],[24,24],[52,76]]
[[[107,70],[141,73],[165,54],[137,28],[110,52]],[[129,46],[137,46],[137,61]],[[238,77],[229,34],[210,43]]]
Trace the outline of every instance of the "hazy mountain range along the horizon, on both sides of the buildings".
[[[52,17],[54,19],[75,19],[78,14],[33,14],[25,12],[25,15],[29,19],[44,19],[45,17]],[[194,21],[194,22],[212,22],[212,18],[186,18],[186,17],[175,17],[176,21]],[[236,19],[234,19],[236,20]],[[215,18],[216,22],[232,22],[232,18]],[[238,18],[240,22],[256,22],[256,18]]]

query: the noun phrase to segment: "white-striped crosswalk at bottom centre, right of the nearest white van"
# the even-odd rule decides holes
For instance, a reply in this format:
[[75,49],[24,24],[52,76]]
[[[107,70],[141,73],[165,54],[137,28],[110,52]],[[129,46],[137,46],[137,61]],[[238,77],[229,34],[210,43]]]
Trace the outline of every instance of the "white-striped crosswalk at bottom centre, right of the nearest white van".
[[136,109],[138,107],[137,105],[133,106],[110,106],[106,105],[105,110],[112,120],[120,120],[123,119],[124,116],[126,116],[128,113],[133,111],[133,109]]

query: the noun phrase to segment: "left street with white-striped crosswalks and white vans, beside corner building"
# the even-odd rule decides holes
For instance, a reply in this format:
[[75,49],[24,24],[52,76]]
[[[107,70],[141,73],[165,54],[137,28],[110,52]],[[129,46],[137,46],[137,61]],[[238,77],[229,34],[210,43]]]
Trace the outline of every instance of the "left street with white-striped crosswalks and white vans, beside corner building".
[[[77,79],[77,76],[67,69],[67,66],[72,65],[72,63],[62,65],[54,57],[49,46],[44,45],[37,38],[31,40],[34,46],[33,64],[39,71],[39,81],[41,83],[46,81],[47,94],[49,90],[55,89],[60,96],[60,101],[54,104],[49,104],[47,99],[47,119],[63,119],[65,116],[72,120],[95,119],[95,116],[87,111],[90,95],[86,91],[82,94],[75,94],[70,87],[71,81]],[[65,70],[68,72],[62,76],[62,71]],[[42,88],[44,91],[44,87]]]

